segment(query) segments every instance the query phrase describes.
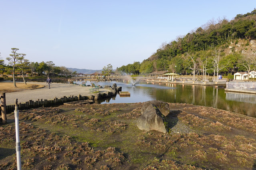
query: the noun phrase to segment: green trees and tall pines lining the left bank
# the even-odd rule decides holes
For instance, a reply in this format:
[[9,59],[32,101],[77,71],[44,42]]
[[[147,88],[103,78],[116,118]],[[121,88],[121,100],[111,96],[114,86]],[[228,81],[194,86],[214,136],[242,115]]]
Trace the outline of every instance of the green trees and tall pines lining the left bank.
[[[49,76],[49,75],[59,75],[66,76],[71,74],[72,71],[63,66],[55,66],[52,61],[42,61],[38,62],[30,62],[26,59],[26,54],[18,53],[18,48],[11,49],[10,57],[6,57],[6,60],[9,61],[8,64],[4,63],[4,60],[0,58],[0,73],[2,73],[2,77],[4,77],[4,73],[12,74],[14,86],[16,87],[15,76],[20,74],[23,78],[24,83],[26,83],[24,75],[29,73],[32,77],[35,75],[38,76]],[[1,54],[1,53],[0,53]],[[73,72],[76,74],[76,72]]]

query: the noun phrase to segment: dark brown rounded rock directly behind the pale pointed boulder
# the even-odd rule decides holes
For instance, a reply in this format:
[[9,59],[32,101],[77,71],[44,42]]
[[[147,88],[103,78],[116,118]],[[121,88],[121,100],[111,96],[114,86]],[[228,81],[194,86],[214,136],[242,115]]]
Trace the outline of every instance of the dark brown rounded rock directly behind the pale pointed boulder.
[[147,101],[143,103],[143,107],[141,109],[141,113],[143,114],[143,112],[145,112],[145,110],[147,109],[147,107],[149,105],[155,105],[164,116],[167,116],[169,114],[169,110],[170,110],[170,106],[168,103],[165,103],[163,101],[157,101],[157,100],[153,100],[153,101]]

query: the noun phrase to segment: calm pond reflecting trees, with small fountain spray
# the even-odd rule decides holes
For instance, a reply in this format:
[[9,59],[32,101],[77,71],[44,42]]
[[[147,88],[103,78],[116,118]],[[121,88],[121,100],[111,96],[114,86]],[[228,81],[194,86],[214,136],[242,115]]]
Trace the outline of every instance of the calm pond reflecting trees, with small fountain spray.
[[[75,83],[81,84],[83,81]],[[67,83],[67,82],[59,82]],[[140,81],[133,86],[131,81],[87,81],[86,85],[113,85],[129,91],[130,97],[116,97],[100,101],[104,103],[138,103],[159,100],[169,103],[188,103],[214,107],[250,117],[256,117],[256,95],[226,92],[223,86],[185,85],[170,83],[150,83]]]

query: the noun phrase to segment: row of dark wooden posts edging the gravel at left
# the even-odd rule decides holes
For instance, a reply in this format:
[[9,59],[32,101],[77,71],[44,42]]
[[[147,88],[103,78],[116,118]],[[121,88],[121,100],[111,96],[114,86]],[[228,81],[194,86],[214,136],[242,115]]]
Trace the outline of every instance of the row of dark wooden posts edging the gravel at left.
[[[27,109],[34,109],[38,107],[51,107],[62,105],[63,103],[71,102],[71,101],[80,101],[80,100],[87,100],[87,96],[63,96],[62,98],[54,98],[52,100],[47,99],[37,99],[36,101],[27,101],[25,103],[18,103],[19,110],[27,110]],[[12,113],[15,109],[15,105],[7,105],[6,106],[6,99],[5,93],[1,93],[1,114],[2,114],[2,123],[6,123],[6,114]]]

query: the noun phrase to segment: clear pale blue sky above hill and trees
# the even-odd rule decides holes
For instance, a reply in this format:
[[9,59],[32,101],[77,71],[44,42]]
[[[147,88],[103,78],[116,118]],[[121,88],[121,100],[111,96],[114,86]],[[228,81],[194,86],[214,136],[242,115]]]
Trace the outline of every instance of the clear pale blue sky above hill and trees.
[[[142,62],[212,18],[246,14],[255,0],[0,0],[0,53],[79,69]],[[7,63],[7,61],[6,61]]]

